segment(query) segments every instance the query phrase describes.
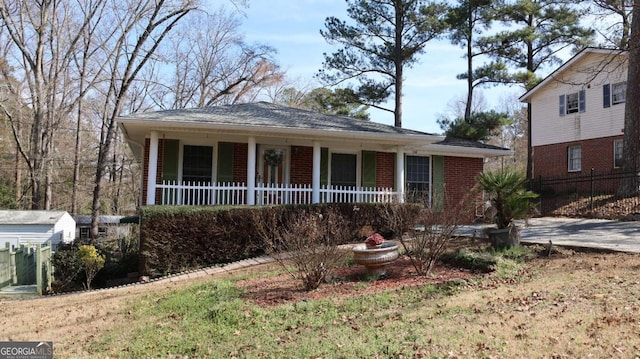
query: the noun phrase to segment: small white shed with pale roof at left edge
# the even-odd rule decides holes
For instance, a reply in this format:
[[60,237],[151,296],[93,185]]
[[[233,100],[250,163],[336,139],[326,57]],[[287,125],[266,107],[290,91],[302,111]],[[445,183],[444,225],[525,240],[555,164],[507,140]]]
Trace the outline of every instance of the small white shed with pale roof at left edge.
[[60,242],[76,237],[76,222],[65,211],[0,210],[0,246],[10,243],[48,244],[55,251]]

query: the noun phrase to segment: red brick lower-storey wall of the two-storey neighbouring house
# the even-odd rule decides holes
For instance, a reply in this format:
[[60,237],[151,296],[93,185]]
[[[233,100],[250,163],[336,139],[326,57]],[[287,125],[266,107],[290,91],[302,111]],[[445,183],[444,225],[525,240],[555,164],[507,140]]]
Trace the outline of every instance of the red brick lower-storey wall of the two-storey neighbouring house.
[[[564,177],[571,174],[589,174],[593,168],[596,172],[608,172],[613,168],[613,141],[622,140],[621,136],[602,137],[592,140],[556,143],[533,148],[534,178]],[[568,147],[580,146],[582,151],[581,171],[569,172]]]

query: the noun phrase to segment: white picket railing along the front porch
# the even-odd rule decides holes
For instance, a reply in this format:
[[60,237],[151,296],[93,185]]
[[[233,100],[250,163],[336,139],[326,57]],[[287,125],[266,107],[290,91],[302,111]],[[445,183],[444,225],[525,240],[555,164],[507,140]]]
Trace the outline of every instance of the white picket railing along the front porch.
[[[165,181],[156,185],[163,205],[242,205],[247,204],[248,187],[244,183],[198,183]],[[321,203],[386,203],[397,199],[392,188],[323,186]],[[257,205],[311,204],[311,185],[258,185]]]

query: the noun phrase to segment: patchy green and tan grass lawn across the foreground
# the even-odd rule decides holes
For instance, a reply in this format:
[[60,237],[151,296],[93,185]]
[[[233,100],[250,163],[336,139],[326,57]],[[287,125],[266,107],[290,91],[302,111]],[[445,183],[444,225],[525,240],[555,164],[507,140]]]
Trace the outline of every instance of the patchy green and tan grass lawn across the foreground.
[[271,305],[249,299],[254,289],[242,283],[278,277],[277,267],[207,279],[129,297],[120,320],[56,357],[640,356],[640,255],[563,249],[498,267],[373,292],[376,282],[363,281],[348,295],[326,284],[326,295]]

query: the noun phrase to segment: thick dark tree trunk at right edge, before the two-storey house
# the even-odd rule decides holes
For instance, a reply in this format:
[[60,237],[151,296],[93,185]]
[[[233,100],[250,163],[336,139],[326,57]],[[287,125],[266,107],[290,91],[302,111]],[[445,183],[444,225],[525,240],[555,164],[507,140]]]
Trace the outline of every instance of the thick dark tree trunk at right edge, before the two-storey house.
[[624,112],[622,169],[625,177],[618,194],[629,197],[640,192],[640,3],[634,2],[629,41],[627,101]]

